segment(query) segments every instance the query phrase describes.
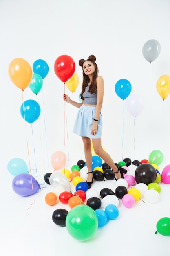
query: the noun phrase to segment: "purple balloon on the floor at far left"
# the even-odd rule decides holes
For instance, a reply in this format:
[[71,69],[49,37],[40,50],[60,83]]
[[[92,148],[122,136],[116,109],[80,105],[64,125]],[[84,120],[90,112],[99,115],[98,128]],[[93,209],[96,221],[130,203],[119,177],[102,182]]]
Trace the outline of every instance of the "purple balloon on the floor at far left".
[[40,189],[40,185],[29,173],[21,173],[13,179],[12,188],[18,195],[28,196],[35,194]]

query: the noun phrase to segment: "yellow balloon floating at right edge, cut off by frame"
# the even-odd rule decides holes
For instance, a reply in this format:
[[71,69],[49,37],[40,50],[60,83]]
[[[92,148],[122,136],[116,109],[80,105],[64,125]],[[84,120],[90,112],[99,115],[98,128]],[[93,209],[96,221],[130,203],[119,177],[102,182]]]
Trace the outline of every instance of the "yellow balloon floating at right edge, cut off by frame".
[[157,80],[157,91],[164,100],[170,94],[170,76],[163,75]]

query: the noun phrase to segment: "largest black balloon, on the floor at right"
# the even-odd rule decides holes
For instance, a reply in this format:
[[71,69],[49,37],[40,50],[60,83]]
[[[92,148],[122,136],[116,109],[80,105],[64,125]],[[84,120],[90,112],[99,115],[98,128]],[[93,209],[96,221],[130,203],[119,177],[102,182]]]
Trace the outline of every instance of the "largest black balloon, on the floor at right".
[[146,185],[155,182],[156,171],[152,164],[144,163],[137,166],[135,170],[135,180],[137,183],[144,183]]

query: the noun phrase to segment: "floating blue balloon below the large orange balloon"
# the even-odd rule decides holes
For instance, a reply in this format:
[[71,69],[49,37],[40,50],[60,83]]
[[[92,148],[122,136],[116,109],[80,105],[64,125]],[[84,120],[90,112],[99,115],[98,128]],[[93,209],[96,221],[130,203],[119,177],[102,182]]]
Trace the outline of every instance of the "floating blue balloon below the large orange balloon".
[[37,101],[29,99],[24,101],[24,108],[23,104],[21,105],[20,112],[25,121],[32,124],[40,116],[41,109]]

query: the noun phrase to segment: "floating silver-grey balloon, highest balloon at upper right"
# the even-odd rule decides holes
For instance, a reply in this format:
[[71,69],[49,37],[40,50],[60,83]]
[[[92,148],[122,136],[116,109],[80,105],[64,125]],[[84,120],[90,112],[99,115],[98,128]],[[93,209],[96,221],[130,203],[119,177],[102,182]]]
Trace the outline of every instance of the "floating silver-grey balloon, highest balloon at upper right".
[[152,61],[155,61],[155,59],[159,56],[160,52],[161,45],[155,39],[148,40],[142,48],[142,54],[144,58],[150,63],[152,63]]

